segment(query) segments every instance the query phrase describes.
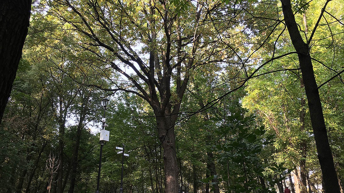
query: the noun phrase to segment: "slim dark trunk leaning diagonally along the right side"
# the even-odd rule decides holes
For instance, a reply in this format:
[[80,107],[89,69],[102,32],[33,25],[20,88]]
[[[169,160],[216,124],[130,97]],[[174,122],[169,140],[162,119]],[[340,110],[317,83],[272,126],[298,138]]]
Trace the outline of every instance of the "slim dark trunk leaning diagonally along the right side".
[[[333,163],[329,139],[327,137],[319,90],[314,77],[309,46],[301,37],[298,25],[295,21],[295,16],[291,9],[290,0],[281,0],[281,2],[284,20],[287,25],[292,44],[296,52],[298,52],[298,58],[313,127],[314,139],[318,152],[318,159],[324,180],[323,186],[326,193],[340,193],[337,173]],[[328,2],[329,0],[326,2],[326,4]],[[323,8],[323,11],[324,9],[325,8]]]

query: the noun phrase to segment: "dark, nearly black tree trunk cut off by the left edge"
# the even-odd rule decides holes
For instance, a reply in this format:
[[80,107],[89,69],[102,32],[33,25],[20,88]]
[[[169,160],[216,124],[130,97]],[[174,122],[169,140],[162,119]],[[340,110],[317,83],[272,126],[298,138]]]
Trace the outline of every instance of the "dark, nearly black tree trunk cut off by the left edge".
[[0,123],[28,34],[30,11],[31,0],[0,1]]

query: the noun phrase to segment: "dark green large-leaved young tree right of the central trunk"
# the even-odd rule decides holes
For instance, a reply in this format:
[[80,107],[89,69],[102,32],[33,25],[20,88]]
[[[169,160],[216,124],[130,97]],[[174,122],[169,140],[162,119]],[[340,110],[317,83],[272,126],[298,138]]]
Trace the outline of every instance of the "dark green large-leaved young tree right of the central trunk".
[[[260,181],[259,178],[269,181],[272,186],[275,184],[266,171],[269,168],[267,150],[275,142],[276,136],[267,134],[264,126],[257,126],[256,118],[253,116],[244,117],[240,113],[235,113],[228,115],[226,122],[227,124],[218,127],[215,131],[223,140],[215,147],[221,156],[219,161],[223,164],[227,163],[231,168],[227,178],[223,179],[233,181],[229,184],[228,190],[271,192],[271,187],[266,187],[265,182]],[[278,173],[285,169],[281,164],[273,172]]]

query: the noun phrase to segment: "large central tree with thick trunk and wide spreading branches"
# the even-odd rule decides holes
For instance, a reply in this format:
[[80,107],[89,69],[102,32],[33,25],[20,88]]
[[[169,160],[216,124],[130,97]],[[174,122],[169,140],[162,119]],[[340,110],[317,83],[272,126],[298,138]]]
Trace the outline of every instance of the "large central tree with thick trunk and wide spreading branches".
[[56,0],[50,4],[49,14],[72,31],[80,50],[105,65],[97,68],[112,68],[117,74],[107,77],[114,83],[111,88],[88,86],[133,93],[150,105],[163,147],[167,193],[179,188],[175,124],[193,70],[211,68],[230,57],[225,52],[232,52],[212,39],[209,13],[217,11],[220,2]]

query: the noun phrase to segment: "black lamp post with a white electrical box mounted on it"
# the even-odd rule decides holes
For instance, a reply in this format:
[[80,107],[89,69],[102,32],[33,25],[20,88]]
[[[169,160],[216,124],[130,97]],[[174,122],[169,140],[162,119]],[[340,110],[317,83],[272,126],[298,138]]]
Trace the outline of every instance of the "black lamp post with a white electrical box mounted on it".
[[105,130],[106,126],[106,118],[105,118],[105,111],[106,111],[106,106],[109,102],[109,99],[104,98],[101,100],[103,102],[103,107],[104,107],[104,115],[103,118],[101,118],[101,122],[103,123],[102,130],[100,130],[100,138],[99,138],[99,144],[100,144],[100,154],[99,154],[99,167],[98,167],[98,178],[97,178],[97,190],[96,193],[99,193],[99,180],[100,180],[100,168],[101,168],[101,154],[103,153],[103,146],[106,143],[106,141],[109,141],[109,136],[110,132]]

